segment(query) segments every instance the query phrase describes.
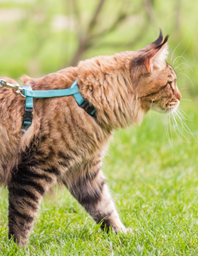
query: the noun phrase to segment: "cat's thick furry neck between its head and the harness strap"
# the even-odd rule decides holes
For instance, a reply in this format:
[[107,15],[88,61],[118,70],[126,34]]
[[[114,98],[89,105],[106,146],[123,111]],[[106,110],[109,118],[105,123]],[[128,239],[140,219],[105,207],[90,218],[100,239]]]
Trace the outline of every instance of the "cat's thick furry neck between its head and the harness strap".
[[107,129],[141,123],[143,113],[129,74],[126,53],[87,59],[78,65],[78,86]]

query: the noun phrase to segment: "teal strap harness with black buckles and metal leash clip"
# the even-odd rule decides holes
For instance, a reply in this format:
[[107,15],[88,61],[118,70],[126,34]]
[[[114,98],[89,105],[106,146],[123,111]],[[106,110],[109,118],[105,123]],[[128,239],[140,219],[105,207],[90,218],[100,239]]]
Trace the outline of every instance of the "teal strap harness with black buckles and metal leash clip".
[[81,96],[79,93],[77,80],[72,84],[72,87],[69,89],[59,89],[59,90],[32,90],[30,86],[23,86],[20,87],[19,84],[10,84],[7,83],[4,79],[0,79],[0,87],[10,87],[16,90],[15,93],[20,94],[21,96],[26,98],[26,105],[25,105],[25,112],[23,114],[23,123],[22,129],[28,130],[29,126],[32,124],[32,111],[34,110],[33,107],[33,99],[40,99],[40,98],[53,98],[53,97],[63,97],[63,96],[71,96],[75,97],[76,102],[78,103],[80,108],[84,108],[84,111],[87,114],[93,116],[96,112],[96,109],[93,105],[90,105],[86,99]]

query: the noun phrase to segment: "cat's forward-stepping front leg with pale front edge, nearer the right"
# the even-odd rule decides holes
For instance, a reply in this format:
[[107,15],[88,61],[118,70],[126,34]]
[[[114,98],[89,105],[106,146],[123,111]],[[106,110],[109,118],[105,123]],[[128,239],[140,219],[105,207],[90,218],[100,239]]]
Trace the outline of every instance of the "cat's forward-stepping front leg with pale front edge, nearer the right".
[[70,172],[64,183],[96,223],[102,222],[102,229],[112,227],[116,232],[126,233],[100,168],[99,160],[89,161],[84,169],[81,167],[78,172]]

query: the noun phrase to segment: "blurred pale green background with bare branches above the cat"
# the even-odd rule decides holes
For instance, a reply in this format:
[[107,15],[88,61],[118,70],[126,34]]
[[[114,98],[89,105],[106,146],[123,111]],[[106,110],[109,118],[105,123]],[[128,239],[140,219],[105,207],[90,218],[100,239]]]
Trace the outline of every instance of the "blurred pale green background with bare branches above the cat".
[[1,75],[37,78],[80,59],[137,50],[161,28],[178,86],[197,94],[197,8],[196,0],[0,0]]

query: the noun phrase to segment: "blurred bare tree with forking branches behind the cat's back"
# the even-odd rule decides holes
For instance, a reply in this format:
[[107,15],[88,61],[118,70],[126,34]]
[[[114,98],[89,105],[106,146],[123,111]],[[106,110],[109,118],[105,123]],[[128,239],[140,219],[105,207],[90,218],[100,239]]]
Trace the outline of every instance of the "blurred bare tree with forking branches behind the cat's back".
[[[75,15],[76,34],[78,38],[78,48],[71,59],[71,66],[75,66],[84,55],[84,53],[93,47],[134,46],[145,35],[145,32],[148,29],[148,24],[154,24],[155,22],[154,8],[151,0],[142,0],[137,10],[133,8],[132,2],[125,0],[120,2],[121,6],[119,11],[117,11],[116,16],[114,17],[114,20],[111,22],[111,24],[102,29],[99,23],[99,18],[102,16],[105,17],[104,9],[108,2],[109,0],[96,1],[95,9],[90,15],[90,20],[87,23],[87,27],[84,27],[84,23],[82,23],[81,20],[81,11],[79,8],[78,0],[68,0],[68,5],[71,10],[70,12]],[[118,3],[119,2],[111,2],[112,8],[114,8],[114,5]],[[143,22],[140,24],[139,32],[135,36],[133,35],[129,41],[104,42],[105,35],[116,32],[120,26],[123,26],[124,23],[129,20],[129,17],[133,17],[138,13],[142,14]]]

